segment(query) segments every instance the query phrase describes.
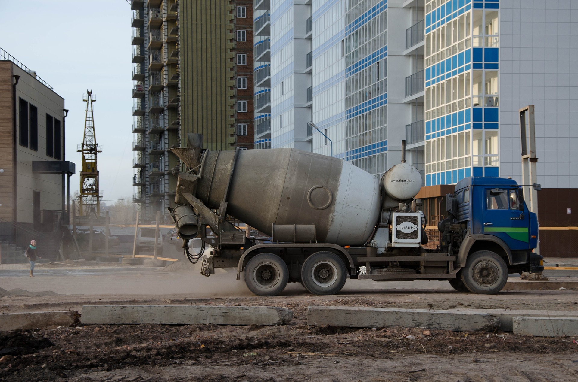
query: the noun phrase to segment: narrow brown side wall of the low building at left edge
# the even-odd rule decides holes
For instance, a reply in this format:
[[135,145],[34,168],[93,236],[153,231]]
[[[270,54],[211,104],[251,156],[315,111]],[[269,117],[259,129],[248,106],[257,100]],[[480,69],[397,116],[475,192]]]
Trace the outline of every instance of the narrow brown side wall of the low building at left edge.
[[14,217],[14,130],[12,62],[0,61],[0,218]]

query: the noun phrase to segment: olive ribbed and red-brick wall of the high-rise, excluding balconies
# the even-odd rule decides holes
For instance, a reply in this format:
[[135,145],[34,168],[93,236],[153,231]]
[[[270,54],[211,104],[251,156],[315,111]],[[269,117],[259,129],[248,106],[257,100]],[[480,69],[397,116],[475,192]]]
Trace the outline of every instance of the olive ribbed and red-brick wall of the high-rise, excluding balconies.
[[[213,150],[253,148],[253,2],[179,2],[181,136]],[[186,145],[186,140],[181,140]]]

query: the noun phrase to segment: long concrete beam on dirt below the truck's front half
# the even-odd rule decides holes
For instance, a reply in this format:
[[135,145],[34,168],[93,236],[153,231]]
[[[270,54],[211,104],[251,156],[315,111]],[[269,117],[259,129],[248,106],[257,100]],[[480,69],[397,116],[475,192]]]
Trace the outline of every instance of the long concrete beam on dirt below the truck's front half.
[[358,306],[309,306],[307,324],[354,328],[401,326],[452,331],[490,330],[500,325],[498,317],[487,313]]

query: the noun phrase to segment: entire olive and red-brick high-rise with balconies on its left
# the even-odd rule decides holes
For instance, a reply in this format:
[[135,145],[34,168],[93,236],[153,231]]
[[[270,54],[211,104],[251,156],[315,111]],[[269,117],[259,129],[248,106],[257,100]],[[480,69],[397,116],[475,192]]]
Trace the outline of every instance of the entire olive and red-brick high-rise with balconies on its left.
[[179,159],[202,133],[210,149],[253,148],[253,2],[131,0],[134,202],[167,215]]

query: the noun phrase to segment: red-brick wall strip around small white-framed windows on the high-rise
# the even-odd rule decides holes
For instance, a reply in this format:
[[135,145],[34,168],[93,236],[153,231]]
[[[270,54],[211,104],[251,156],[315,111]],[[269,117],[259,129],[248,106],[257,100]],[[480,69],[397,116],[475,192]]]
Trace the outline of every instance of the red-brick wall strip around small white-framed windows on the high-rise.
[[[234,14],[234,35],[236,39],[237,29],[246,31],[246,42],[235,41],[235,144],[239,147],[253,148],[253,1],[252,0],[232,0],[233,14]],[[236,17],[237,7],[246,7],[246,17]],[[247,54],[247,65],[236,65],[236,55],[238,53]],[[247,77],[247,88],[237,89],[237,77]],[[236,101],[247,101],[247,113],[236,112]],[[236,125],[237,123],[247,124],[247,135],[238,136]]]

